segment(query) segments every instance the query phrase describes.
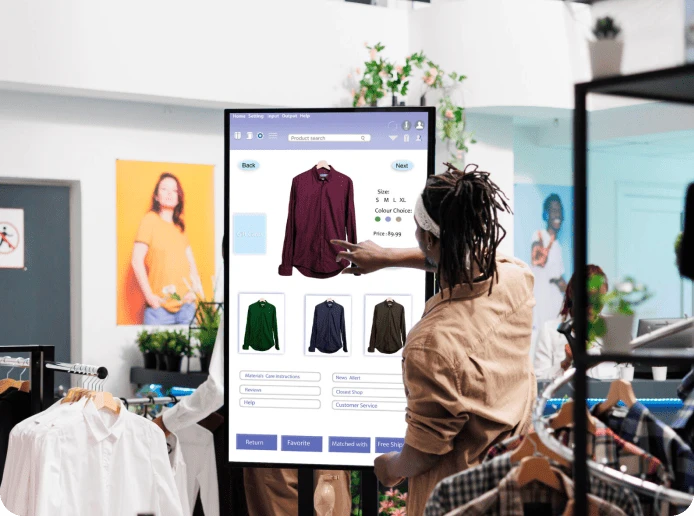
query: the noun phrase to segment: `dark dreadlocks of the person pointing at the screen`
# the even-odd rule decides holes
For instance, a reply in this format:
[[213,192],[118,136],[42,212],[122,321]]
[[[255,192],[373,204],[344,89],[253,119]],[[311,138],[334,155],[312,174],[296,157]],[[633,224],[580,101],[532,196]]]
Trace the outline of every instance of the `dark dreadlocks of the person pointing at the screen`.
[[[424,207],[441,228],[441,259],[436,282],[441,278],[452,293],[456,285],[472,289],[473,264],[484,278],[495,277],[496,250],[506,236],[499,212],[513,213],[506,194],[489,178],[489,172],[470,164],[464,171],[450,163],[443,174],[430,176],[422,193]],[[492,281],[489,294],[492,293]],[[443,291],[441,292],[443,295]]]

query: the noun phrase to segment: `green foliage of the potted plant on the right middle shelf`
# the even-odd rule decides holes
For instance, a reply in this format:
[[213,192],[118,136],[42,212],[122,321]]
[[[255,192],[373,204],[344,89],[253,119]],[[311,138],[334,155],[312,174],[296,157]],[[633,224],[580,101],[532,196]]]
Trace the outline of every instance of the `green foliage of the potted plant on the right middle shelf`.
[[588,345],[607,334],[607,324],[602,317],[603,308],[607,307],[610,314],[634,315],[634,308],[645,303],[653,297],[648,287],[637,283],[632,277],[624,278],[614,289],[607,294],[602,293],[605,278],[593,275],[588,278],[588,306],[590,316],[588,318]]

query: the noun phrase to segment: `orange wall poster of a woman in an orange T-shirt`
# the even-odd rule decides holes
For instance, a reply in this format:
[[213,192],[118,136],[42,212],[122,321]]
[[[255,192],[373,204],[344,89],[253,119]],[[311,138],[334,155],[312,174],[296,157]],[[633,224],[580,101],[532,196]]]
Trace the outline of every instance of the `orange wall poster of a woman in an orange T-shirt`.
[[116,161],[117,324],[188,325],[213,297],[214,167]]

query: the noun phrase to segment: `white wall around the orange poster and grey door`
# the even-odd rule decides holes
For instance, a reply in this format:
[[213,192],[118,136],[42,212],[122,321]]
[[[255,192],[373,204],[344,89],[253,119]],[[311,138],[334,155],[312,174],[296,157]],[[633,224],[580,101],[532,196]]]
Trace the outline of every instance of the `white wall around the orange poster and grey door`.
[[[130,393],[138,327],[116,326],[116,159],[215,165],[216,262],[224,231],[223,115],[217,110],[27,93],[0,94],[0,176],[79,182],[81,297],[72,359],[104,365],[107,389]],[[1,186],[0,186],[1,188]],[[79,321],[81,319],[81,327]],[[40,322],[37,322],[40,324]]]

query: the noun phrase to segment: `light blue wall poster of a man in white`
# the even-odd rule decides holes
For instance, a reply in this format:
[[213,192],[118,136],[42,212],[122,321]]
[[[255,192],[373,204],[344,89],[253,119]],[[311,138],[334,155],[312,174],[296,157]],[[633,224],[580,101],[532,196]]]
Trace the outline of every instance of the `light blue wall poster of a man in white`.
[[533,336],[561,310],[573,272],[572,216],[573,187],[515,185],[514,251],[535,275]]

